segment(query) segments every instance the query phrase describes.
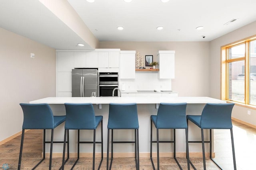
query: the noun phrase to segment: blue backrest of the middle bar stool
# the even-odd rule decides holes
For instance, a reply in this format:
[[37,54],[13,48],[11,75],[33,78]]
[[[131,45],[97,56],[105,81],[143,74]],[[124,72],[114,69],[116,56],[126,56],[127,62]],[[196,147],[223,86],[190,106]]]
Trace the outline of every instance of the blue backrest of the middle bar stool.
[[139,129],[137,104],[109,104],[108,129]]

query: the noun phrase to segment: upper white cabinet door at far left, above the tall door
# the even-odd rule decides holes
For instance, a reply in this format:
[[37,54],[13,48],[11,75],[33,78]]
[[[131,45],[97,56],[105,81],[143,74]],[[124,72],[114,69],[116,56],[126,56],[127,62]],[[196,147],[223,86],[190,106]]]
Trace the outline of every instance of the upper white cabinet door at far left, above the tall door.
[[57,52],[58,72],[72,72],[74,68],[74,52]]

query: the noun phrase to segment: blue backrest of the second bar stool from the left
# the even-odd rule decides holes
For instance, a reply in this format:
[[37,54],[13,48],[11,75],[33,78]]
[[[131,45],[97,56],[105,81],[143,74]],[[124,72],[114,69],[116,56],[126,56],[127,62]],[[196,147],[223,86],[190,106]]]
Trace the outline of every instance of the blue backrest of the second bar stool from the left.
[[88,104],[65,103],[65,129],[96,129],[94,108]]

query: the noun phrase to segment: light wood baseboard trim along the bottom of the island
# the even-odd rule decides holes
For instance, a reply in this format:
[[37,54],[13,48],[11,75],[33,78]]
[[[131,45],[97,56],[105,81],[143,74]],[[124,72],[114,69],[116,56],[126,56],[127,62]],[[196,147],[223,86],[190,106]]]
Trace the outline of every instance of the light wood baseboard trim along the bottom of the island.
[[[52,153],[52,157],[53,158],[62,158],[62,154],[63,153]],[[205,153],[206,156],[210,156],[210,152],[206,152]],[[43,156],[43,154],[42,154]],[[45,153],[46,158],[50,157],[50,153]],[[109,154],[109,156],[111,156],[111,154]],[[160,152],[159,153],[160,157],[173,157],[174,154],[173,152]],[[189,153],[190,157],[203,157],[202,152],[190,152]],[[67,157],[67,154],[66,154]],[[77,153],[69,153],[69,157],[70,158],[77,158]],[[80,158],[92,158],[92,153],[80,153],[79,154]],[[95,157],[96,158],[100,158],[101,157],[101,153],[95,153]],[[103,153],[103,157],[106,158],[107,157],[107,153],[104,152]],[[134,157],[134,153],[132,152],[128,152],[128,153],[114,153],[113,154],[114,158],[132,158]],[[140,157],[141,158],[150,158],[150,152],[143,152],[140,153]],[[156,152],[152,153],[152,157],[156,157]],[[176,152],[176,157],[186,157],[186,152]],[[215,152],[212,153],[212,157],[215,157]]]

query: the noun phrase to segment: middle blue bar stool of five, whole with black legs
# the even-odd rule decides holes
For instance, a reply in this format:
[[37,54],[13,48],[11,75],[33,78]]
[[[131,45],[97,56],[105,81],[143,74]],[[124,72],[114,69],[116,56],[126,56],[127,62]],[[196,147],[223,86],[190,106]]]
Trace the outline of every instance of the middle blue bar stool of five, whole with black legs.
[[[140,169],[139,157],[139,122],[137,113],[137,104],[109,104],[108,115],[108,147],[107,147],[107,170],[109,159],[109,131],[111,129],[111,170],[113,161],[113,143],[134,143],[135,144],[135,163],[136,170]],[[113,141],[113,129],[134,129],[134,141]]]

